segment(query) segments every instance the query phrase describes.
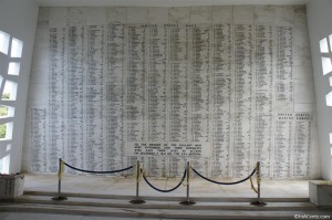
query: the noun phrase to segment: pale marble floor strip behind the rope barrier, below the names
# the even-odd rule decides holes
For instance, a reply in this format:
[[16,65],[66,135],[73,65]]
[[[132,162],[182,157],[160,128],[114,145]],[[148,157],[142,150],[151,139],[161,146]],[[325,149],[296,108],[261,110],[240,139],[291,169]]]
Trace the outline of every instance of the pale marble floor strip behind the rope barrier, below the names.
[[[179,178],[153,178],[153,185],[160,189],[170,189],[176,186]],[[230,179],[216,179],[219,181],[235,181]],[[24,190],[28,191],[56,191],[56,175],[25,175]],[[256,182],[256,181],[253,181]],[[64,175],[62,180],[63,192],[89,192],[95,195],[135,196],[136,181],[134,177],[105,177],[105,176],[72,176]],[[180,186],[169,193],[155,191],[144,180],[139,184],[141,196],[185,197],[186,186]],[[208,182],[199,177],[190,180],[190,196],[193,197],[241,197],[256,198],[250,188],[250,181],[238,185],[221,186]],[[308,180],[271,180],[263,179],[261,197],[266,198],[308,198]]]

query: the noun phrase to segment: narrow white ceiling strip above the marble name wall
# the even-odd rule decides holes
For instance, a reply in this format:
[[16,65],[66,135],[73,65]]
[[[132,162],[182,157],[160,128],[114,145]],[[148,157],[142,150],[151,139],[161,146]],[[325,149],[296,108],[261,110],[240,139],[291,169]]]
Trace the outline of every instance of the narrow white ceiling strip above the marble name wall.
[[305,4],[308,0],[35,0],[42,7],[188,7],[236,4]]

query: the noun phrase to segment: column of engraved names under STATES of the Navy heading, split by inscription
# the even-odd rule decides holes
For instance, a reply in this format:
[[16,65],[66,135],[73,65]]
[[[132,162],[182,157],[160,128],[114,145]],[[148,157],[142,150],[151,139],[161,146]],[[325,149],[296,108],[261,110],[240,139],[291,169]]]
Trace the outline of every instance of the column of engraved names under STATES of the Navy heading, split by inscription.
[[[168,28],[169,142],[188,142],[188,30],[178,24]],[[184,159],[169,158],[169,176],[180,176]]]

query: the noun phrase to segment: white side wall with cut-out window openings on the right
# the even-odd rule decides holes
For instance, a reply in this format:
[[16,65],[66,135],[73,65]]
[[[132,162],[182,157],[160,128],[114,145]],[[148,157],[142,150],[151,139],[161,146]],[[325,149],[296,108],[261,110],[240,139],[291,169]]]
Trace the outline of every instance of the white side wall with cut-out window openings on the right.
[[[310,33],[313,63],[314,86],[317,96],[318,126],[320,140],[320,160],[323,179],[332,179],[331,147],[329,133],[332,133],[332,107],[326,106],[325,95],[332,91],[329,77],[332,73],[322,74],[320,40],[332,34],[332,1],[310,0],[307,17]],[[331,53],[330,53],[331,55]]]

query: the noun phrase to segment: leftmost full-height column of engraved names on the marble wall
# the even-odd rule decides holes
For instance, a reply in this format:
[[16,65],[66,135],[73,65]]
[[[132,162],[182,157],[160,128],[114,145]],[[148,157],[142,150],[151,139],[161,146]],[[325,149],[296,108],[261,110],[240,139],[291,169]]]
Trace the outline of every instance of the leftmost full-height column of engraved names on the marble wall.
[[48,171],[58,171],[58,159],[65,146],[65,28],[50,28],[49,56],[49,164]]

